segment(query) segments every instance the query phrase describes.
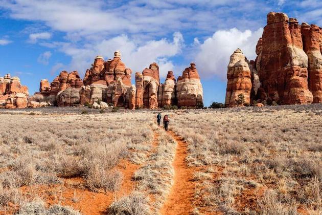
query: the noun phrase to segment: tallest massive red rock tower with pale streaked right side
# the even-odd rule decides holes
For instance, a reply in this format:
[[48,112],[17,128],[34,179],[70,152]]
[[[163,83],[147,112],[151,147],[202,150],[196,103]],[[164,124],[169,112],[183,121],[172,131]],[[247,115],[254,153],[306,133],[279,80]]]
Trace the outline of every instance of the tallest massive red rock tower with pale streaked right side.
[[257,71],[268,99],[278,103],[310,103],[307,62],[301,27],[284,13],[268,13],[257,45]]

